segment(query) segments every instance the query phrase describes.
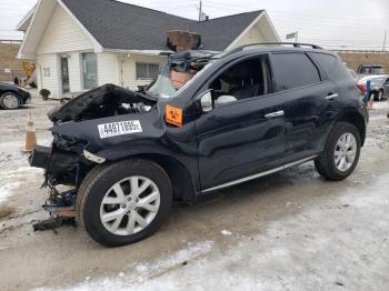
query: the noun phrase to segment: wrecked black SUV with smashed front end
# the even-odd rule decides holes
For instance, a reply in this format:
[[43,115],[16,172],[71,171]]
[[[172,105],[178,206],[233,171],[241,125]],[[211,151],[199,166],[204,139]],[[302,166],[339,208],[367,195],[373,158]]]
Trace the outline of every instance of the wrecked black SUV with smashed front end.
[[[176,86],[177,74],[191,79]],[[142,92],[106,84],[50,112],[53,143],[30,163],[46,169],[47,209],[73,211],[103,245],[128,244],[156,232],[173,200],[311,160],[347,178],[368,121],[358,96],[339,57],[317,46],[188,52]]]

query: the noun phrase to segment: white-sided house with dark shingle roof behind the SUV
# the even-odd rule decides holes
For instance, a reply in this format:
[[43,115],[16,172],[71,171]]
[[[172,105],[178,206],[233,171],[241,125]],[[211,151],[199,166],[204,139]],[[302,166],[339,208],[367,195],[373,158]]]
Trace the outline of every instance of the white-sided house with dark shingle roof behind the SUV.
[[194,21],[113,0],[39,0],[18,24],[20,59],[37,64],[39,89],[51,97],[104,83],[136,89],[166,61],[167,32],[193,31],[206,50],[279,41],[265,10]]

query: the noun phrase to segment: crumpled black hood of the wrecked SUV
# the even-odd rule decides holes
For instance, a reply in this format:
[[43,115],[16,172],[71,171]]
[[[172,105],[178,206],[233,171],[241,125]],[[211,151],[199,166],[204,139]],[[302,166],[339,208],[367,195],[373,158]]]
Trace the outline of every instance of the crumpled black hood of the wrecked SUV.
[[[91,120],[137,112],[139,104],[150,107],[156,102],[144,94],[114,84],[104,84],[52,109],[48,117],[54,123]],[[122,107],[123,103],[128,107]]]

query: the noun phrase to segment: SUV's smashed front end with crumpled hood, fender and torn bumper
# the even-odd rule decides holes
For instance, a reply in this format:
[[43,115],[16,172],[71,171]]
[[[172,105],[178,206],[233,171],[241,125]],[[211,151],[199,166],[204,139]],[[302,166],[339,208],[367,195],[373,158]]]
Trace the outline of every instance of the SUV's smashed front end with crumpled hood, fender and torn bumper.
[[[43,187],[50,197],[43,208],[74,215],[78,188],[92,168],[112,158],[110,149],[120,152],[134,138],[162,134],[156,103],[146,94],[106,84],[51,110],[52,144],[36,147],[29,159],[31,167],[46,170]],[[62,185],[66,190],[59,191]]]

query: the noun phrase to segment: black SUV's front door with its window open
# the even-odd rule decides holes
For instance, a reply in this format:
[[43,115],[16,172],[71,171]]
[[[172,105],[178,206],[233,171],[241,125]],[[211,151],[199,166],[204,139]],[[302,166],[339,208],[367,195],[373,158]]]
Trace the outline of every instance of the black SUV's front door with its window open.
[[196,121],[202,191],[281,163],[283,111],[270,80],[267,56],[260,56],[231,64],[207,84],[213,109]]

